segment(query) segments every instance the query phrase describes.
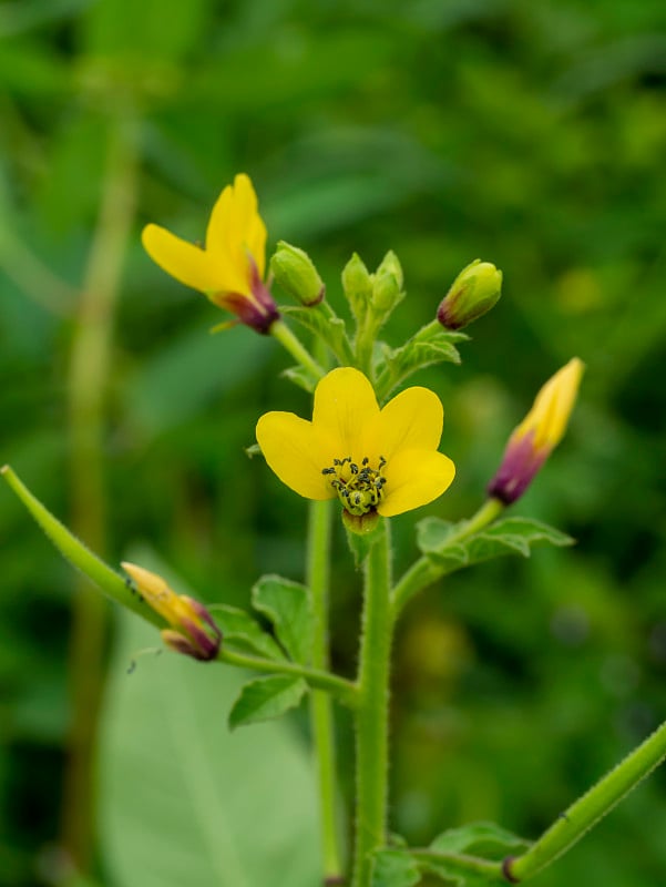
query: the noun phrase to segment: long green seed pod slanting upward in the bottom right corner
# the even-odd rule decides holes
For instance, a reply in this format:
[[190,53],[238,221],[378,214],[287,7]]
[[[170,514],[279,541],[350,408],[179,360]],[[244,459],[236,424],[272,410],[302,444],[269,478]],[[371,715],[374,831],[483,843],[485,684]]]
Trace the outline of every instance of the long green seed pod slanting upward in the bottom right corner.
[[556,822],[522,856],[504,863],[506,879],[518,884],[531,878],[580,840],[622,798],[666,758],[666,724],[662,724]]

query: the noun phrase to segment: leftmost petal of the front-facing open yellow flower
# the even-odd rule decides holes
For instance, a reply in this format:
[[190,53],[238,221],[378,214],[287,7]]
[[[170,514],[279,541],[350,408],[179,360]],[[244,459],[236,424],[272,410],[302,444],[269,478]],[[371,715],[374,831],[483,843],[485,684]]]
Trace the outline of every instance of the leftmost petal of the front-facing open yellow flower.
[[268,466],[299,496],[335,498],[335,490],[321,473],[336,457],[324,429],[294,412],[267,412],[257,422],[257,442]]

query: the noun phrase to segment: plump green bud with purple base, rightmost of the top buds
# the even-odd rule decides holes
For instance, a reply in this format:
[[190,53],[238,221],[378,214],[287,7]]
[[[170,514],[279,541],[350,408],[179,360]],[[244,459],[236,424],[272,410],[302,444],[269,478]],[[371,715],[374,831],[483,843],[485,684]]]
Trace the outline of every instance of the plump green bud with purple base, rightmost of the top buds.
[[437,310],[437,319],[447,329],[462,329],[488,314],[501,295],[502,272],[490,262],[475,258],[453,281]]

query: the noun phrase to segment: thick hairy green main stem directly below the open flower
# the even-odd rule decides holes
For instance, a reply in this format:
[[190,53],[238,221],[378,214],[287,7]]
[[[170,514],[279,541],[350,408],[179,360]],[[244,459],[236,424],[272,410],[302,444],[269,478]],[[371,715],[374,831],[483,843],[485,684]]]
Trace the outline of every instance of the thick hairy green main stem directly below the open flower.
[[356,712],[356,826],[352,887],[369,887],[371,853],[387,843],[391,551],[388,522],[366,559]]

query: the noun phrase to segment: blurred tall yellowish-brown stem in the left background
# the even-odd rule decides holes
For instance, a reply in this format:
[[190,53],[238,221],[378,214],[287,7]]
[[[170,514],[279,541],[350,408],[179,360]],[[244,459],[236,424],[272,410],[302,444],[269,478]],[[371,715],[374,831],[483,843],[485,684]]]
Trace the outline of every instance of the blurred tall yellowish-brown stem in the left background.
[[[136,195],[135,133],[112,120],[100,214],[82,282],[69,379],[72,528],[95,551],[106,537],[103,439],[113,314]],[[72,609],[70,756],[63,788],[63,843],[78,867],[89,867],[94,834],[93,745],[103,681],[106,609],[79,584]]]

